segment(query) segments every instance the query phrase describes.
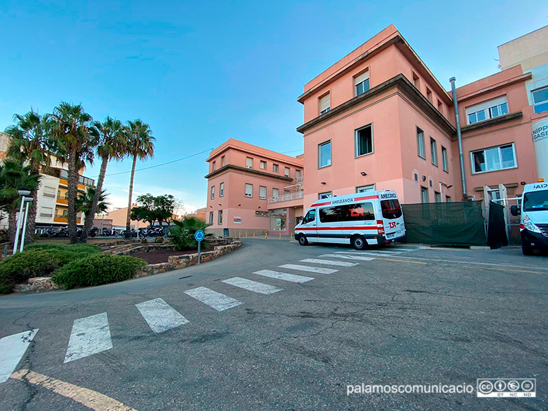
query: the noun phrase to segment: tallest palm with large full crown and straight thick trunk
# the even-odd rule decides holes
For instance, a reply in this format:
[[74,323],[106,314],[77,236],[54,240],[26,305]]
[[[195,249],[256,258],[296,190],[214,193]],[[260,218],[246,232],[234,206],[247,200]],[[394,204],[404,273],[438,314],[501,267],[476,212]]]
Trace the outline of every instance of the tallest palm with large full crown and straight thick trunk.
[[92,117],[82,104],[62,102],[47,116],[49,133],[59,160],[68,165],[69,237],[71,244],[78,242],[75,201],[78,193],[78,171],[86,161],[93,162],[93,147],[97,142],[96,130],[90,127]]

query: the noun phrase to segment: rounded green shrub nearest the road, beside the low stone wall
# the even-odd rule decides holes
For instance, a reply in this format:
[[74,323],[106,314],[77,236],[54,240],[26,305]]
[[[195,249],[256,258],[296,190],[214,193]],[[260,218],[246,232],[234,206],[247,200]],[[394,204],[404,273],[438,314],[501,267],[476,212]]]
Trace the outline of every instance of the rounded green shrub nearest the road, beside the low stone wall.
[[53,273],[53,281],[65,290],[75,287],[98,286],[132,278],[145,260],[130,256],[95,254],[75,260]]

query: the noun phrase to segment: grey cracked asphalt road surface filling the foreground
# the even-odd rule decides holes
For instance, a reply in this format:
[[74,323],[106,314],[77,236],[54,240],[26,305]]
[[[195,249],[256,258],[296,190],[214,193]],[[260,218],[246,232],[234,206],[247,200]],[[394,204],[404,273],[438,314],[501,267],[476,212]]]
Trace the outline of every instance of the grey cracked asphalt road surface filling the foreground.
[[[29,374],[0,383],[0,410],[88,410],[89,401],[108,409],[99,394],[136,410],[548,409],[546,256],[524,257],[516,247],[396,245],[358,253],[286,240],[243,242],[223,258],[171,273],[1,297],[0,337],[38,329],[15,371],[50,379],[40,385]],[[301,262],[310,258],[358,264]],[[299,277],[259,270],[313,279],[290,282]],[[261,294],[223,282],[234,277],[281,290],[262,286],[271,293]],[[240,304],[218,311],[185,293],[199,287]],[[136,304],[158,298],[188,323],[153,332],[154,321],[180,320],[164,311],[147,323]],[[86,337],[71,336],[75,320],[102,313],[112,348],[64,362],[69,340],[73,347],[73,338]],[[349,384],[362,383],[475,389],[480,377],[536,378],[537,397],[482,399],[475,390],[347,395]]]

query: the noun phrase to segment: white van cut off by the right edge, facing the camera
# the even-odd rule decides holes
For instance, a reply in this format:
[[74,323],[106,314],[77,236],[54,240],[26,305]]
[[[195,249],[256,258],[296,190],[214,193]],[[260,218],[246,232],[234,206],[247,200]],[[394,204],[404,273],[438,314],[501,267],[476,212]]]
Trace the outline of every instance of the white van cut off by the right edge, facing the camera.
[[548,249],[548,183],[525,184],[521,208],[512,206],[510,213],[521,214],[521,251],[530,256],[534,249]]

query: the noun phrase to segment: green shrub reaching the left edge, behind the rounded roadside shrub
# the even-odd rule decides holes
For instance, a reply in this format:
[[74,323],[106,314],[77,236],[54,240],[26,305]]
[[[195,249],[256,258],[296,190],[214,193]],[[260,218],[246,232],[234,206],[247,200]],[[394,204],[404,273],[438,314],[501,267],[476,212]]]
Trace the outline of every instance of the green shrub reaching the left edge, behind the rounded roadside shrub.
[[0,262],[0,292],[8,293],[31,277],[49,277],[65,264],[96,253],[99,248],[93,245],[29,245],[23,253]]

